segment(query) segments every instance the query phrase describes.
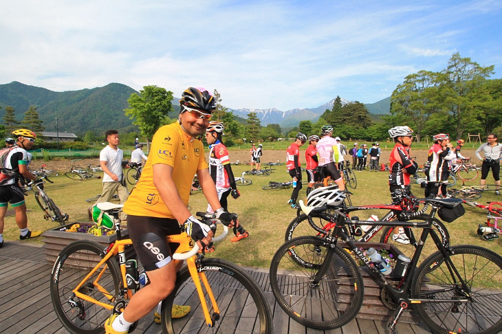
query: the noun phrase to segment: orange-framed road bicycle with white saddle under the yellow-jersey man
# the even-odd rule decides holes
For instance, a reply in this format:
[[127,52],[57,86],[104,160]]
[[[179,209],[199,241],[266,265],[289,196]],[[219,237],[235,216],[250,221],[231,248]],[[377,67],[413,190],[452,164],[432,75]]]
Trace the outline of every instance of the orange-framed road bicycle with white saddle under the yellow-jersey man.
[[[107,202],[97,205],[113,216],[117,241],[106,248],[89,240],[70,243],[56,258],[50,278],[54,310],[72,333],[102,331],[110,313],[122,311],[140,289],[136,278],[126,278],[124,249],[132,241],[122,239],[120,232],[118,215],[122,205]],[[214,214],[197,212],[197,216],[213,229],[219,222]],[[213,241],[221,240],[227,232],[228,227],[224,227],[223,234]],[[236,333],[241,331],[240,324],[252,333],[272,334],[270,306],[249,274],[226,260],[204,258],[185,232],[167,236],[167,240],[179,244],[173,260],[186,260],[186,265],[177,273],[175,289],[162,301],[163,333],[192,333],[194,328],[211,333]],[[186,318],[172,319],[173,304],[190,305],[192,311]]]

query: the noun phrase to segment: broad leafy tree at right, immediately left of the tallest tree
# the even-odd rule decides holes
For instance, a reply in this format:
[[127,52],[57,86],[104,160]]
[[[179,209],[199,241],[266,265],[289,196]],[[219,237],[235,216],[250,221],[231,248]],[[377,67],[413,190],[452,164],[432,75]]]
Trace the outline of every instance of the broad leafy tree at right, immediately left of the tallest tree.
[[[404,78],[391,96],[391,115],[402,115],[401,124],[413,128],[420,142],[422,131],[433,113],[441,111],[439,73],[418,71]],[[395,125],[393,125],[395,126]]]

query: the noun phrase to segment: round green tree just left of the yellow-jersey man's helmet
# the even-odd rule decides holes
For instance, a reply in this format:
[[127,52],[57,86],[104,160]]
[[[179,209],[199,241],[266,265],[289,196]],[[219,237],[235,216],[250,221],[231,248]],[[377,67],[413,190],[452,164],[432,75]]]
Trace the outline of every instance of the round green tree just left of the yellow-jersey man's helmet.
[[172,123],[168,113],[173,109],[173,92],[155,85],[144,86],[140,95],[132,93],[127,99],[129,108],[125,115],[140,128],[143,137],[151,142],[155,131],[164,124]]

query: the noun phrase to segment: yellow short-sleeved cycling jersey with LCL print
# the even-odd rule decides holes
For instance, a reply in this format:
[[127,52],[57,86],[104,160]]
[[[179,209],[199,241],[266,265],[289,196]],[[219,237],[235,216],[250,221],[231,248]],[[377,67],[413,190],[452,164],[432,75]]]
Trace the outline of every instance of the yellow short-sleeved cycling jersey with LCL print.
[[200,140],[192,140],[178,122],[162,126],[153,135],[140,181],[124,204],[124,212],[127,214],[174,219],[153,186],[154,164],[173,167],[173,181],[179,196],[188,205],[193,176],[197,170],[208,168],[204,146]]

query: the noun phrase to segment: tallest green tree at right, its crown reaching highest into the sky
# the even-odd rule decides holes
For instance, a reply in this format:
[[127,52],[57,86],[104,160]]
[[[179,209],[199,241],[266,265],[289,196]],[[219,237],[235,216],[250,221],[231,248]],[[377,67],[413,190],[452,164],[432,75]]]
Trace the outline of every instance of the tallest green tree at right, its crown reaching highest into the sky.
[[455,122],[457,137],[462,137],[464,129],[479,117],[480,111],[472,108],[470,101],[475,98],[477,88],[493,73],[493,65],[481,67],[470,58],[461,58],[459,52],[453,54],[448,67],[441,71],[441,98]]

